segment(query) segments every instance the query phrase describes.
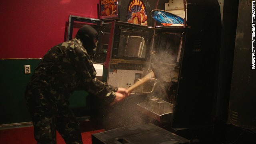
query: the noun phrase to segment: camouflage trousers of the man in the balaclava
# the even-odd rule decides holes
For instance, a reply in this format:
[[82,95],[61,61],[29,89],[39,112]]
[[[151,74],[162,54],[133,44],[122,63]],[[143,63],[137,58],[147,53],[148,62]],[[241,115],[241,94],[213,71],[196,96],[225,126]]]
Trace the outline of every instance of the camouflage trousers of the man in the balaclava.
[[68,106],[57,106],[42,94],[26,96],[37,144],[56,144],[56,131],[66,144],[83,144],[78,120]]

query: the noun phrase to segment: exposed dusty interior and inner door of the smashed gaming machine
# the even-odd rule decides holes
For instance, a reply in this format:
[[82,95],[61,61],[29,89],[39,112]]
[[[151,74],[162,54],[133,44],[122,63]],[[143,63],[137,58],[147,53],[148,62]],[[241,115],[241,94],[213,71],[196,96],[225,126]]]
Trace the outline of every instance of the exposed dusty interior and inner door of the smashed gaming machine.
[[[136,88],[133,96],[146,94],[147,100],[137,104],[140,112],[160,122],[170,122],[176,100],[182,59],[182,32],[118,28],[119,40],[112,52],[108,84],[129,88],[153,71],[155,78]],[[114,47],[113,47],[114,49]]]

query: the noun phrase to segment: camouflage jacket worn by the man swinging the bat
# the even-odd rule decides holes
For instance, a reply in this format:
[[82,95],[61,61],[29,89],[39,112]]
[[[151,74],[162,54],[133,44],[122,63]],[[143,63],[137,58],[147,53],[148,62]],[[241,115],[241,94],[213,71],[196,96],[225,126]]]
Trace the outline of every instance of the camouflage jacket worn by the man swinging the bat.
[[59,106],[69,105],[74,90],[82,88],[108,103],[118,88],[97,80],[93,62],[80,40],[73,38],[52,47],[34,71],[26,88],[27,100],[42,94]]

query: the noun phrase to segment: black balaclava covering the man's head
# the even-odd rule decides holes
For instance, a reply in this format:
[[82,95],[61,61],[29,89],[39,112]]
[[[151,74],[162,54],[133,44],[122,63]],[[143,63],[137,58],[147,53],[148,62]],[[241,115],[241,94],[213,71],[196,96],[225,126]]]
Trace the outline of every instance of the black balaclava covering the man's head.
[[87,52],[91,55],[96,47],[94,40],[98,40],[98,32],[92,26],[84,25],[76,33],[76,38],[79,39]]

